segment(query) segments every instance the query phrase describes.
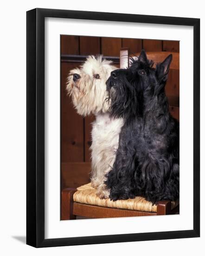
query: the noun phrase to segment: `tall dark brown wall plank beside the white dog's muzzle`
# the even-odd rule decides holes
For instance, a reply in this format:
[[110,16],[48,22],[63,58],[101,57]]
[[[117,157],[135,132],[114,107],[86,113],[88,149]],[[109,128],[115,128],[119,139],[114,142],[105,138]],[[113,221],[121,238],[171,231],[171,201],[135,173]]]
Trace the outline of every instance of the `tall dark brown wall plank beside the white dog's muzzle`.
[[83,117],[78,115],[66,92],[66,79],[77,63],[61,63],[61,161],[83,162]]

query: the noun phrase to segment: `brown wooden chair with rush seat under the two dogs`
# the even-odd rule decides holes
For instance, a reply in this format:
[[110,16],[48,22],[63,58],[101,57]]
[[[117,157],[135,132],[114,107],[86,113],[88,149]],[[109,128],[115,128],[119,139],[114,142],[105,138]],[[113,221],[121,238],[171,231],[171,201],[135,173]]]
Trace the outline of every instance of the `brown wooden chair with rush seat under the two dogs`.
[[[120,52],[120,67],[129,67],[129,57],[136,58],[135,56],[139,56],[139,54],[129,54],[128,48],[122,48]],[[148,52],[147,57],[158,63],[163,61],[169,54],[169,52]],[[170,104],[170,112],[179,120],[179,53],[172,54],[173,61],[170,66],[166,93]],[[65,173],[63,172],[63,175]],[[100,200],[96,196],[95,189],[90,184],[81,186],[78,189],[65,188],[61,193],[61,220],[73,220],[76,219],[76,216],[110,218],[177,213],[179,213],[179,202],[161,201],[156,206],[152,206],[150,202],[143,198],[118,200],[116,202],[111,202],[109,199]]]

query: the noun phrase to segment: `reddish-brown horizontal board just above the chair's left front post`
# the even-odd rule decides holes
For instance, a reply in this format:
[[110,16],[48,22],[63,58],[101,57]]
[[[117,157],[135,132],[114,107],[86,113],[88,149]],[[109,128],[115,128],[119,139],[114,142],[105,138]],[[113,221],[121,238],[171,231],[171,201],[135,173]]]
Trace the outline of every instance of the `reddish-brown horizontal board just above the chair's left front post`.
[[90,182],[91,166],[89,162],[61,163],[61,190],[77,188]]

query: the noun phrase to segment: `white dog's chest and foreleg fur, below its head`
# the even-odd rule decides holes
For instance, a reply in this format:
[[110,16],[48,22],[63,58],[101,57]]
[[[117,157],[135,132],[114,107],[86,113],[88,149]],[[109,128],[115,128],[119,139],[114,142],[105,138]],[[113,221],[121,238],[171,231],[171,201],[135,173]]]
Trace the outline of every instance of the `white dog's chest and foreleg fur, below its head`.
[[91,180],[95,186],[103,183],[105,174],[113,166],[122,125],[121,118],[114,119],[108,113],[96,115],[92,128],[91,146]]

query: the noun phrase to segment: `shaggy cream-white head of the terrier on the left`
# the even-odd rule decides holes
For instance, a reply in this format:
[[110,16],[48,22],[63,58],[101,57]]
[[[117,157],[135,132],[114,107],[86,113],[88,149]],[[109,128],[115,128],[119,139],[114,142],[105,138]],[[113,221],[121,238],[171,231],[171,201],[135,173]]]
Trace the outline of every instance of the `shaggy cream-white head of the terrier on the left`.
[[70,71],[66,89],[80,115],[104,113],[109,105],[105,82],[110,72],[117,69],[102,55],[89,56],[80,68]]

